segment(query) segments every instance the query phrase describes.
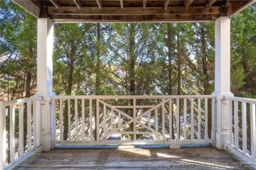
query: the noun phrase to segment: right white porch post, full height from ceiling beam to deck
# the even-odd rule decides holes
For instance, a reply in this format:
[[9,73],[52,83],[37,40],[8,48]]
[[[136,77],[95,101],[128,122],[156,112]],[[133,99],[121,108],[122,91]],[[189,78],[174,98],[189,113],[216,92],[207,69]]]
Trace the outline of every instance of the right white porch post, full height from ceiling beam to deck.
[[215,92],[217,95],[216,147],[223,150],[228,140],[228,101],[230,92],[230,18],[221,16],[215,21]]

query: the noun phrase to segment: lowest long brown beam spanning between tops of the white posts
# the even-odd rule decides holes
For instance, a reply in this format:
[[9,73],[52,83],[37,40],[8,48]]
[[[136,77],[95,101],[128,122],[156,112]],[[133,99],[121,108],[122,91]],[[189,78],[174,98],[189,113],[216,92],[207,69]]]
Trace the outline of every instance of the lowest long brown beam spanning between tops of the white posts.
[[[205,8],[205,7],[204,7]],[[147,15],[147,16],[81,16],[81,15],[50,15],[54,22],[214,22],[219,18],[214,15]]]

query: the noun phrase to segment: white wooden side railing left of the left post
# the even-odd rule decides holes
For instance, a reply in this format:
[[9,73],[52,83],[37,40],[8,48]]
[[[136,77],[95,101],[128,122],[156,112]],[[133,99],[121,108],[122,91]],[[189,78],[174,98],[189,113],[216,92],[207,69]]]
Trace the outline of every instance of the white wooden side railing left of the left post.
[[12,169],[40,150],[40,101],[41,97],[0,101],[0,169]]

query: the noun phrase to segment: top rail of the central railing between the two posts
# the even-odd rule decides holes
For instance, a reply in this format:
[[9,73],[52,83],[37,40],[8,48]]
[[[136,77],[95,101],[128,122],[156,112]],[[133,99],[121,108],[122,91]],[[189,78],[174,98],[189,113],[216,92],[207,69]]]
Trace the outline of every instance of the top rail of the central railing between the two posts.
[[216,95],[55,95],[51,99],[183,99],[215,97]]

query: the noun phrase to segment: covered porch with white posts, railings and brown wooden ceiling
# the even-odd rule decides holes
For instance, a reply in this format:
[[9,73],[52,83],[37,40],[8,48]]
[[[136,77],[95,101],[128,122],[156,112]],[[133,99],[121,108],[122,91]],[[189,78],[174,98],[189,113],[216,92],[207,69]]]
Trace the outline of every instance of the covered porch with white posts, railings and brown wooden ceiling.
[[[133,163],[135,168],[144,167],[144,165],[146,167],[148,164],[142,162],[145,163],[151,159],[151,156],[156,155],[158,163],[163,163],[162,158],[184,157],[183,160],[172,160],[176,165],[180,161],[190,164],[205,163],[200,155],[206,152],[207,159],[211,159],[211,162],[207,163],[240,161],[233,160],[230,154],[220,151],[224,149],[233,150],[246,161],[255,163],[256,100],[234,97],[230,92],[230,17],[255,1],[106,0],[102,2],[96,0],[47,3],[47,1],[16,0],[15,2],[38,18],[37,93],[34,97],[27,99],[0,101],[1,168],[13,168],[35,152],[49,152],[49,154],[53,153],[53,157],[61,158],[59,153],[65,154],[69,151],[77,152],[78,155],[80,152],[87,152],[95,156],[98,152],[118,152],[120,161]],[[209,95],[54,95],[54,22],[215,22],[215,91]],[[15,124],[17,112],[19,124]],[[24,112],[27,116],[26,124],[23,123]],[[250,115],[249,118],[246,118],[247,113]],[[9,141],[7,141],[7,115],[10,115]],[[71,120],[71,115],[74,115],[74,121]],[[16,126],[18,126],[18,137],[15,135]],[[26,141],[23,135],[24,126],[27,127]],[[124,130],[126,127],[130,129]],[[247,143],[248,130],[250,131],[249,143]],[[125,139],[122,138],[124,135]],[[16,141],[18,141],[18,150],[15,146]],[[10,143],[9,153],[7,153],[7,143]],[[61,146],[82,147],[95,144],[121,146],[167,144],[169,148],[181,148],[191,144],[211,144],[214,148],[181,148],[179,150],[133,148],[121,152],[120,150],[54,149]],[[194,152],[199,157],[198,160],[191,161],[189,157],[193,157]],[[131,155],[139,157],[143,154],[146,155],[146,160],[141,158],[139,163],[134,161],[134,158],[129,160]],[[9,155],[9,162],[6,161],[7,155]],[[37,161],[41,161],[40,157],[44,156],[43,153],[36,155],[38,157],[24,161],[17,168],[33,167],[33,161],[36,164]],[[75,153],[68,155],[74,156]],[[123,155],[128,155],[128,158],[122,158]],[[216,155],[220,155],[220,159],[212,160]],[[83,156],[85,160],[91,159],[90,156],[88,158],[87,155]],[[103,160],[109,159],[100,154],[97,156]],[[226,156],[231,160],[228,162],[222,160]],[[51,158],[44,159],[51,160]],[[70,159],[63,158],[58,161]],[[167,164],[173,164],[172,161],[168,161]],[[75,159],[74,162],[80,165]],[[49,161],[45,165],[58,167],[53,163],[54,161]],[[73,163],[70,161],[70,167],[74,167]],[[89,165],[96,165],[96,163],[99,162],[92,160]],[[110,161],[110,164],[99,163],[96,167],[108,168],[108,165],[112,165],[110,167],[119,168],[116,164],[118,163],[115,160]],[[159,167],[158,164],[154,166]]]

